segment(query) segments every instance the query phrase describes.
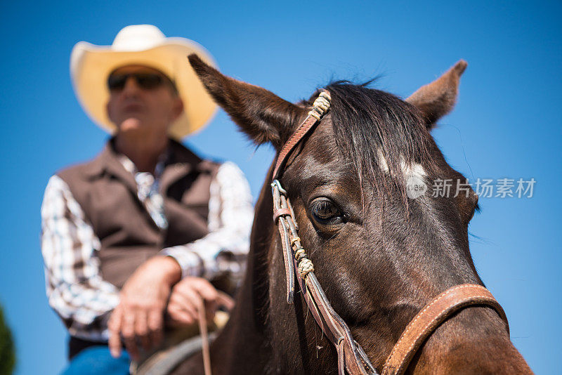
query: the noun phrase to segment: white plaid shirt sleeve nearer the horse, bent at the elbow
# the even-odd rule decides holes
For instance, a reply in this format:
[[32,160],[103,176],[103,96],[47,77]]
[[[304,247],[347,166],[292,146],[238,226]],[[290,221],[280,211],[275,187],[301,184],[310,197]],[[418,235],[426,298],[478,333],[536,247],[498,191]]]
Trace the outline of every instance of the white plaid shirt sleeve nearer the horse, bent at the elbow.
[[249,184],[232,162],[222,164],[210,187],[209,234],[189,244],[163,249],[176,259],[182,276],[206,279],[229,273],[239,280],[249,251],[249,233],[254,220]]

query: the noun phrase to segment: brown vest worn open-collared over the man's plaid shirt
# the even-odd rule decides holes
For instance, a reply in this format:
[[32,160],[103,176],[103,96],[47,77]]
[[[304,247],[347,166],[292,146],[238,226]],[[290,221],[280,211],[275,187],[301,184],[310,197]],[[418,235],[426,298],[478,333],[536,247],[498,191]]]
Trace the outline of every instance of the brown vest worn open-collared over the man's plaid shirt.
[[209,187],[218,164],[202,160],[174,140],[160,179],[168,228],[152,221],[137,197],[136,181],[107,143],[96,159],[58,174],[100,239],[103,279],[121,289],[141,263],[168,246],[207,235]]

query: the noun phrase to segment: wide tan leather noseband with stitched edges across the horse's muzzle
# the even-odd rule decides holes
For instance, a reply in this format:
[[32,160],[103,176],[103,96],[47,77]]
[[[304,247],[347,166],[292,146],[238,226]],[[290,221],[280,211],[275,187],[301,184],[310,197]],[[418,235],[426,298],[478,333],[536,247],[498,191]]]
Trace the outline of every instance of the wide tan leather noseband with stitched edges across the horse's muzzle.
[[382,375],[403,374],[426,338],[453,314],[471,305],[494,308],[504,320],[509,334],[504,310],[488,289],[476,284],[457,285],[434,298],[412,319],[386,359]]

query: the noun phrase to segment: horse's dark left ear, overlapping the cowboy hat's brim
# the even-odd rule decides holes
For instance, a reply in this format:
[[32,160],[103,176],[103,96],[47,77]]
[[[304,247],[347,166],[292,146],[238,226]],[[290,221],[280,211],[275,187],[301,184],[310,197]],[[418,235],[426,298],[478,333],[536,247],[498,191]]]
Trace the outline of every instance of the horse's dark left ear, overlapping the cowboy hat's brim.
[[226,77],[195,53],[188,59],[216,103],[257,145],[270,142],[280,149],[306,112],[265,88]]

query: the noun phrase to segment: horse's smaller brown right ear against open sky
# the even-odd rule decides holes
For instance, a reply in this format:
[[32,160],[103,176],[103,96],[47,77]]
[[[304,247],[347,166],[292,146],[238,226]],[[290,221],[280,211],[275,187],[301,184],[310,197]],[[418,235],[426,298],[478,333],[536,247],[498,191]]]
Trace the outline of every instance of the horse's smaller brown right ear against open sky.
[[441,77],[421,86],[406,99],[407,103],[415,105],[424,114],[428,129],[432,129],[438,119],[455,107],[459,81],[467,65],[466,61],[459,60]]

